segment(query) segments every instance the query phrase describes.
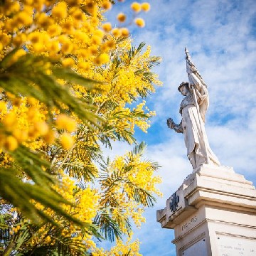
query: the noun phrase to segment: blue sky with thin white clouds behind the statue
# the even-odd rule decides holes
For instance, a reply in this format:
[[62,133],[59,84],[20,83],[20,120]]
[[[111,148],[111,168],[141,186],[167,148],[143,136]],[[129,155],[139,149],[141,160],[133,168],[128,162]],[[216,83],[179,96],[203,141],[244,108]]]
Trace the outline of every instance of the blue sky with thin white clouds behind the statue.
[[[137,0],[138,1],[138,0]],[[139,1],[142,2],[142,1]],[[151,11],[142,14],[144,28],[131,27],[134,45],[144,41],[152,54],[163,61],[154,71],[159,87],[147,100],[156,110],[147,134],[137,139],[148,144],[146,158],[158,161],[164,193],[154,208],[146,210],[146,223],[134,230],[142,241],[146,256],[176,255],[173,230],[161,229],[156,210],[164,208],[166,199],[191,174],[182,134],[166,126],[168,117],[176,123],[182,96],[177,87],[187,80],[184,47],[187,46],[203,79],[208,85],[210,107],[206,114],[206,132],[214,153],[223,166],[233,166],[238,174],[256,184],[256,3],[255,0],[149,0]],[[132,1],[115,4],[109,12],[114,18],[127,12]],[[125,152],[124,144],[114,145],[114,152]]]

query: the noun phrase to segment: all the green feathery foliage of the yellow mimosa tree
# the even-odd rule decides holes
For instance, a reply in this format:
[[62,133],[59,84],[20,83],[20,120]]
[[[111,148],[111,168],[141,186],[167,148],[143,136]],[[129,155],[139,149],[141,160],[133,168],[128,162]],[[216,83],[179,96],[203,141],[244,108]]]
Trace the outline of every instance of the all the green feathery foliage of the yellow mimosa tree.
[[[75,240],[78,233],[72,233],[70,237],[63,235],[63,228],[68,223],[80,227],[80,233],[90,233],[96,238],[101,238],[98,230],[109,240],[122,238],[123,233],[131,231],[131,223],[129,215],[126,214],[127,209],[121,205],[113,191],[122,193],[127,201],[142,206],[153,206],[155,198],[152,193],[128,178],[136,169],[134,159],[142,156],[145,144],[138,144],[127,154],[121,169],[112,169],[112,162],[103,161],[101,150],[102,144],[111,148],[113,140],[130,144],[136,142],[134,132],[127,124],[151,117],[142,110],[120,110],[119,100],[115,97],[119,93],[116,90],[119,71],[134,65],[133,62],[141,53],[143,46],[142,43],[138,48],[125,51],[123,54],[128,56],[126,60],[115,56],[110,65],[105,66],[105,70],[97,68],[97,71],[104,73],[105,78],[112,84],[110,91],[107,92],[107,99],[100,103],[94,100],[95,97],[102,95],[102,91],[94,86],[97,82],[84,78],[73,70],[61,68],[59,63],[26,54],[17,62],[10,64],[15,50],[1,61],[0,86],[5,92],[32,96],[43,102],[48,109],[48,122],[52,124],[54,123],[52,107],[59,109],[60,112],[73,113],[80,119],[78,129],[73,134],[75,144],[69,150],[64,150],[56,143],[45,146],[41,151],[18,146],[15,151],[8,152],[14,161],[8,167],[0,167],[0,195],[17,206],[24,215],[33,220],[33,223],[23,223],[18,232],[10,235],[11,229],[6,226],[9,226],[9,220],[13,216],[0,215],[4,255],[86,255],[85,243]],[[151,92],[149,85],[153,86],[151,84],[154,83],[154,74],[150,73],[148,68],[156,65],[158,61],[159,58],[148,58],[145,68],[139,70],[134,68],[134,75],[145,83],[144,87],[137,88],[140,97],[146,97]],[[64,79],[68,86],[60,85],[59,78]],[[74,84],[85,87],[87,94],[79,99],[75,97]],[[133,95],[129,97],[136,100]],[[125,123],[127,124],[124,125]],[[100,164],[100,173],[95,163]],[[149,169],[158,168],[155,163],[149,161],[144,163],[148,163]],[[87,188],[87,181],[92,183],[98,181],[102,189],[102,198],[93,225],[82,223],[63,210],[63,205],[69,205],[71,208],[74,205],[53,189],[53,186],[59,182],[60,169],[63,169],[68,176],[78,179],[81,189]],[[96,176],[98,178],[95,178]],[[43,210],[36,207],[34,202],[41,203]],[[49,216],[45,209],[53,210],[54,218]],[[48,232],[40,241],[31,244],[32,238],[39,234],[38,230],[41,227],[34,223],[41,225],[48,223],[45,226]],[[46,237],[53,242],[47,243]]]

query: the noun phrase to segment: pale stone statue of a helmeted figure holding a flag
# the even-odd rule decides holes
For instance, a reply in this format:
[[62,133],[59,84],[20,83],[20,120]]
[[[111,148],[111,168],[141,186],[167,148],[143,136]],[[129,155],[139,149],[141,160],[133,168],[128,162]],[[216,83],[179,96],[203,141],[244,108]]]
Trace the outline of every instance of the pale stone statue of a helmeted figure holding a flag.
[[184,134],[187,156],[193,169],[198,169],[202,164],[220,166],[206,136],[205,117],[209,105],[207,85],[193,65],[187,48],[185,53],[189,82],[181,82],[178,86],[178,91],[185,96],[179,111],[182,119],[180,124],[175,124],[174,120],[169,118],[167,125],[175,132]]

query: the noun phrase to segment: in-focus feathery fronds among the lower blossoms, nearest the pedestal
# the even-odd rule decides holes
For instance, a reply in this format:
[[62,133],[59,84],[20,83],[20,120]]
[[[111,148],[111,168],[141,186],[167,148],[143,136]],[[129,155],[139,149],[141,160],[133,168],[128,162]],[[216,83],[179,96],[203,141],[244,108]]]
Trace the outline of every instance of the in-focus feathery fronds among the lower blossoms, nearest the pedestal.
[[[146,144],[142,142],[134,146],[134,149],[127,154],[125,163],[121,169],[112,169],[112,162],[110,159],[102,161],[100,183],[102,184],[102,198],[100,205],[102,210],[97,213],[95,217],[95,224],[100,226],[105,238],[114,240],[114,237],[120,238],[123,230],[131,230],[131,223],[129,218],[126,217],[122,208],[119,208],[119,200],[117,193],[121,190],[124,194],[124,200],[132,200],[143,206],[154,206],[156,199],[146,189],[129,181],[129,174],[131,174],[137,166],[134,164],[136,156],[142,156]],[[158,164],[150,161],[143,161],[149,163],[149,169],[158,169]],[[128,189],[125,188],[128,186]]]

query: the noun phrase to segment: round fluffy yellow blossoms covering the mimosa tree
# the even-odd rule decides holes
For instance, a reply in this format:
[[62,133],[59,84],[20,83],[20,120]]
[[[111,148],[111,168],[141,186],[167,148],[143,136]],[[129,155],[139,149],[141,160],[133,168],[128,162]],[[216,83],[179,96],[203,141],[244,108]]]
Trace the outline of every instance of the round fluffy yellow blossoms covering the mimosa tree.
[[[149,11],[150,5],[133,2],[130,7],[134,12],[132,22],[143,27],[144,20],[138,15]],[[15,166],[12,156],[19,147],[26,147],[49,162],[50,171],[44,166],[38,168],[58,179],[59,183],[50,189],[72,203],[61,204],[67,214],[91,225],[97,213],[104,209],[105,197],[111,195],[118,203],[118,207],[107,209],[111,218],[117,221],[119,215],[123,215],[140,227],[145,222],[146,204],[135,200],[134,191],[127,184],[161,196],[156,188],[161,182],[161,178],[155,176],[156,169],[139,154],[117,156],[110,163],[108,175],[122,173],[127,163],[130,171],[123,172],[107,194],[105,191],[110,184],[100,177],[95,161],[103,159],[102,146],[114,140],[133,144],[136,127],[147,131],[149,119],[156,113],[146,107],[144,98],[155,92],[155,86],[161,82],[151,73],[154,60],[151,48],[148,46],[142,51],[132,47],[129,27],[125,23],[127,15],[118,14],[119,26],[115,28],[105,23],[103,14],[112,8],[108,0],[6,0],[0,4],[0,62],[16,49],[6,60],[7,69],[18,60],[33,55],[43,57],[38,65],[46,77],[53,75],[55,67],[62,67],[82,78],[97,81],[88,90],[79,82],[56,79],[60,88],[79,102],[87,102],[90,113],[99,117],[97,124],[87,124],[63,102],[58,102],[58,107],[53,102],[47,105],[40,100],[40,95],[32,97],[0,88],[0,167]],[[0,73],[3,70],[0,67]],[[36,81],[29,85],[38,88]],[[33,178],[22,169],[18,171],[17,176],[23,183],[33,183]],[[92,187],[93,182],[97,183],[97,189]],[[36,209],[57,223],[59,229],[50,222],[35,228],[23,216],[21,223],[12,228],[11,235],[17,235],[25,226],[33,226],[34,229],[30,229],[32,237],[23,245],[25,249],[33,250],[39,245],[55,245],[70,239],[92,255],[140,255],[139,240],[132,242],[132,232],[124,223],[119,223],[119,228],[122,234],[128,235],[127,242],[117,240],[116,246],[105,251],[95,244],[93,235],[43,203],[31,201]],[[18,208],[10,210],[11,215],[14,213],[23,214]]]

